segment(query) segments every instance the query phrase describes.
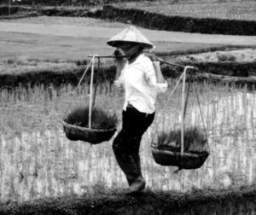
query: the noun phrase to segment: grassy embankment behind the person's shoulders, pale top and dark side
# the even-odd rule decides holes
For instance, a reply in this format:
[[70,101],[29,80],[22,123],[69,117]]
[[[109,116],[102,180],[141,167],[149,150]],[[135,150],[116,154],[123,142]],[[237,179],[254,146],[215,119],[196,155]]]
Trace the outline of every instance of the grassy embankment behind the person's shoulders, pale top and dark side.
[[[240,86],[247,84],[250,88],[255,89],[256,62],[253,58],[254,52],[254,49],[213,51],[194,55],[167,55],[163,56],[163,59],[183,66],[196,67],[196,71],[191,71],[195,81],[212,80],[216,83],[224,82]],[[213,60],[209,61],[210,58]],[[76,85],[79,83],[88,62],[89,60],[36,61],[26,59],[26,61],[21,61],[9,59],[2,61],[0,67],[0,86],[2,89],[12,89],[20,85],[44,84],[55,87],[60,87],[63,84]],[[107,80],[112,83],[115,67],[112,61],[106,61],[102,63],[100,68],[96,67],[95,72],[99,82]],[[183,70],[162,64],[162,72],[166,78],[177,78],[183,73]],[[89,79],[90,73],[83,82],[89,83]]]

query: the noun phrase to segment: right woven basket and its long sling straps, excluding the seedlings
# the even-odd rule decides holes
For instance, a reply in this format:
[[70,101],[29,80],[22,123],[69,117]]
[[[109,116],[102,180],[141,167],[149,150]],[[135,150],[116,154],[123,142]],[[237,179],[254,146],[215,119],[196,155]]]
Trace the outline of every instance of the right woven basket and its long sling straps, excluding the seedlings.
[[[165,62],[165,61],[164,61]],[[172,64],[173,65],[173,64]],[[176,66],[176,65],[174,65]],[[183,67],[183,66],[179,66]],[[199,100],[199,96],[197,93],[197,89],[194,84],[194,90],[195,90],[195,96],[196,96],[196,101],[197,105],[200,109],[200,114],[201,114],[201,119],[202,119],[202,124],[203,124],[203,131],[205,134],[206,139],[204,140],[205,148],[201,151],[185,151],[184,150],[184,118],[186,114],[186,109],[188,105],[188,100],[189,100],[189,90],[190,90],[190,85],[191,85],[191,78],[189,78],[189,84],[187,88],[187,93],[185,92],[185,87],[186,87],[186,76],[187,76],[187,70],[191,68],[193,69],[194,67],[183,67],[183,73],[181,74],[180,78],[177,80],[177,84],[175,85],[174,89],[172,90],[170,96],[166,100],[166,103],[164,105],[164,108],[162,109],[160,113],[160,118],[163,116],[163,113],[166,110],[168,102],[171,100],[175,90],[177,90],[178,84],[183,80],[183,85],[182,85],[182,111],[181,111],[181,145],[180,145],[180,151],[177,151],[177,148],[168,148],[168,149],[163,149],[159,148],[158,144],[155,142],[154,137],[158,133],[159,130],[159,122],[156,123],[156,131],[154,132],[154,135],[152,137],[151,141],[151,148],[152,148],[152,155],[154,158],[154,161],[161,165],[161,166],[177,166],[179,170],[182,169],[196,169],[200,168],[204,162],[207,160],[207,157],[209,155],[209,145],[207,141],[207,130],[206,130],[206,125],[204,123],[204,118],[203,114],[201,111],[201,102]],[[186,95],[185,95],[186,94]],[[172,132],[172,131],[171,131]],[[176,171],[176,172],[177,172]]]

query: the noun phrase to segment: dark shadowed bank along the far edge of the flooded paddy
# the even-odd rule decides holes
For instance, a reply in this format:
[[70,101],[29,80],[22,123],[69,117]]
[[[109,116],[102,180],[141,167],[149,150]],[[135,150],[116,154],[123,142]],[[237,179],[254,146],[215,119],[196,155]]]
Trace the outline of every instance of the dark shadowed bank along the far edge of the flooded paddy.
[[[186,63],[183,63],[186,65]],[[203,80],[213,80],[214,82],[226,82],[236,85],[247,84],[255,88],[256,79],[255,79],[255,70],[256,63],[187,63],[189,66],[197,67],[198,71],[194,73],[194,80],[203,81]],[[79,83],[79,79],[84,73],[85,66],[79,66],[75,69],[63,68],[63,71],[56,72],[54,69],[28,72],[28,73],[19,73],[19,74],[1,74],[0,77],[0,87],[1,89],[12,89],[20,85],[34,86],[44,84],[53,85],[55,87],[60,87],[63,84],[73,84],[76,85]],[[103,67],[98,73],[97,69],[95,70],[98,73],[99,77],[103,77],[102,70],[106,75],[107,81],[110,83],[113,82],[115,68],[114,67]],[[181,69],[163,66],[162,71],[166,78],[177,78],[181,73]],[[90,74],[89,74],[90,75]],[[84,78],[83,82],[89,83],[89,77]],[[100,80],[105,81],[101,78]]]

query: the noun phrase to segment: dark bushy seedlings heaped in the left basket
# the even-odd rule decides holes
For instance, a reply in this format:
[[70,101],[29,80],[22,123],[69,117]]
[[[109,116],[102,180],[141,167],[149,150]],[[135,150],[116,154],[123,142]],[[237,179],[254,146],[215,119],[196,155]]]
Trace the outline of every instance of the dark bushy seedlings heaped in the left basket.
[[[89,107],[75,108],[72,113],[67,115],[65,122],[80,127],[89,127]],[[100,108],[91,110],[91,128],[110,130],[117,125],[117,116],[102,111]]]

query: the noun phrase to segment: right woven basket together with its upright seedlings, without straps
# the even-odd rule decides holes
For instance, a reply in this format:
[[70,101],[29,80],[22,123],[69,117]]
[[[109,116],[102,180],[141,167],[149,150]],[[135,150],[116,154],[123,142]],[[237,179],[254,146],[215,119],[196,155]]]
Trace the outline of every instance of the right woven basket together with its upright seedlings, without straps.
[[181,169],[200,168],[209,155],[207,137],[198,128],[161,132],[152,147],[154,161],[161,166],[177,166]]

